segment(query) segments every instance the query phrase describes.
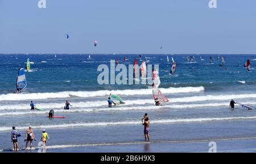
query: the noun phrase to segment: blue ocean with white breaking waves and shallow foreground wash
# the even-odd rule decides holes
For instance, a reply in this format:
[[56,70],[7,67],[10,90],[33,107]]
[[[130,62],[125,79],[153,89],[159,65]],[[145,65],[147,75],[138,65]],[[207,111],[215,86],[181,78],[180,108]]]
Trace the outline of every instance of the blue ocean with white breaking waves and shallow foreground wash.
[[[154,105],[149,85],[97,82],[100,64],[109,66],[117,58],[126,66],[134,58],[141,64],[144,54],[141,60],[139,54],[90,54],[90,60],[89,54],[1,54],[0,151],[12,152],[12,126],[22,133],[19,152],[24,152],[28,126],[38,139],[32,152],[40,149],[43,129],[51,136],[47,152],[208,152],[210,141],[216,141],[218,152],[256,151],[256,110],[240,105],[229,109],[231,99],[256,106],[253,54],[195,54],[193,63],[186,61],[187,54],[168,55],[170,63],[167,54],[146,55],[146,64],[159,64],[159,88],[170,100],[164,106]],[[222,55],[225,68],[219,66]],[[174,75],[169,74],[171,57],[177,67]],[[27,87],[15,94],[16,75],[19,67],[26,67],[27,58]],[[243,68],[247,59],[250,72]],[[110,93],[126,103],[109,108]],[[65,100],[71,103],[70,110],[64,110]],[[43,110],[30,110],[30,101]],[[51,109],[65,118],[47,118]],[[150,117],[150,142],[144,142],[144,113]]]

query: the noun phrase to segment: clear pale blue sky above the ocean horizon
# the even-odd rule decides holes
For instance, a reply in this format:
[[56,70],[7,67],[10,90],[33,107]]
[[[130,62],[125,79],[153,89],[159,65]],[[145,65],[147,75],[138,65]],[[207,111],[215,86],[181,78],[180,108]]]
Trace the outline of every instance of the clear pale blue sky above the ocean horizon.
[[256,53],[255,0],[38,1],[0,1],[0,53]]

